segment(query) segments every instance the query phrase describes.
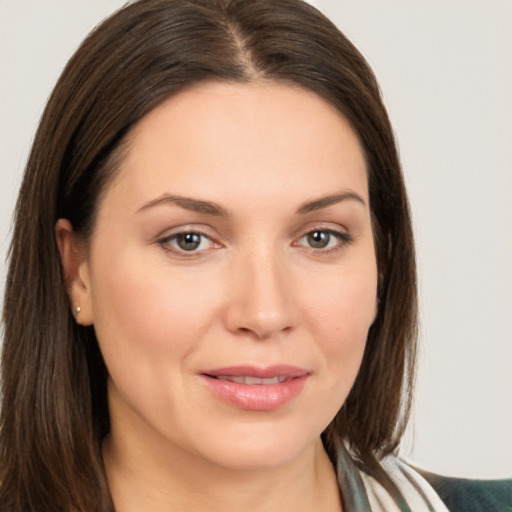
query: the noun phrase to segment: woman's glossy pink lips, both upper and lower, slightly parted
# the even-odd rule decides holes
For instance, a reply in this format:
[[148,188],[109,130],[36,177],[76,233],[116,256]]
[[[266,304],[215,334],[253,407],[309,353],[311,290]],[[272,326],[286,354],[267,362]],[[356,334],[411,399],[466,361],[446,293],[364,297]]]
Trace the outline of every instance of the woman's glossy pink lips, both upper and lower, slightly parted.
[[296,398],[310,373],[296,366],[232,366],[201,373],[213,394],[231,406],[251,411],[279,409]]

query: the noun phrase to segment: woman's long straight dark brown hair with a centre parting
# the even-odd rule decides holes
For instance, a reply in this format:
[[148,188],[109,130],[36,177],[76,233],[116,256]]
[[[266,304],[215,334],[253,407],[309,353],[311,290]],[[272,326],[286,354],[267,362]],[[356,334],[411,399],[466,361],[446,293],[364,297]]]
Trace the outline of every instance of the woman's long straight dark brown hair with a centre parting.
[[300,0],[139,0],[95,29],[42,116],[19,194],[2,354],[0,509],[113,511],[101,442],[107,370],[93,327],[74,322],[54,227],[84,238],[123,142],[145,114],[194,83],[268,80],[314,91],[363,147],[379,308],[356,382],[322,437],[347,443],[388,487],[378,460],[407,421],[416,349],[416,277],[407,197],[375,77],[356,48]]

